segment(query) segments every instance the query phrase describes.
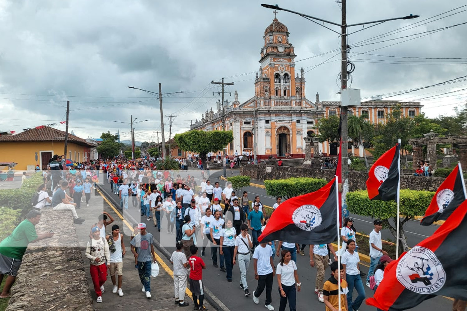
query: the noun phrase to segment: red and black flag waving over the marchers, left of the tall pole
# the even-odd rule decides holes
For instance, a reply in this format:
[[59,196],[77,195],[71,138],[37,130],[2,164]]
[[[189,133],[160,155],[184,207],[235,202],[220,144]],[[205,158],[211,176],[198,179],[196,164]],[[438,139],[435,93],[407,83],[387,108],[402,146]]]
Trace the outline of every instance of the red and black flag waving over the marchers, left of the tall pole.
[[290,198],[276,208],[260,242],[327,244],[337,235],[337,179],[321,189]]

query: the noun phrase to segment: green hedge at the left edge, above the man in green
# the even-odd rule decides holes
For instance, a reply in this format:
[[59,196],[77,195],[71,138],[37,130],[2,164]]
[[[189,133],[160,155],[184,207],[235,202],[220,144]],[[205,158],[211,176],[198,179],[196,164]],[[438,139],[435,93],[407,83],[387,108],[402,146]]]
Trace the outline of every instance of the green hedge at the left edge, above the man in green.
[[17,189],[1,189],[0,206],[19,210],[21,217],[26,218],[26,215],[31,210],[31,198],[42,182],[42,174],[35,173]]

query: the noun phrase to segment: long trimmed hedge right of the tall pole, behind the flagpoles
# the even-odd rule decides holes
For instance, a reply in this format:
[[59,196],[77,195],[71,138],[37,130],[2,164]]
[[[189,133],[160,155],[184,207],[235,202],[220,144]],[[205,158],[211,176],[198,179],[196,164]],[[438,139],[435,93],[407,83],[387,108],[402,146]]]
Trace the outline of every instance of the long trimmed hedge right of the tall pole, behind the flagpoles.
[[[400,192],[400,214],[413,218],[424,215],[435,193],[402,189]],[[347,193],[347,207],[350,213],[371,216],[386,220],[397,215],[397,203],[394,200],[370,200],[367,190]]]

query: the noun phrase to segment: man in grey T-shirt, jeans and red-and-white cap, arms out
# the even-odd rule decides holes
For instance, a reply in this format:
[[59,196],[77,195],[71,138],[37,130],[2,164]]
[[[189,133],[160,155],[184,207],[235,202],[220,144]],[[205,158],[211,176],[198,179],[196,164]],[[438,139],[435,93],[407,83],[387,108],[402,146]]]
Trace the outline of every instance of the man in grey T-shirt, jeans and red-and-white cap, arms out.
[[[131,252],[138,262],[138,274],[143,285],[142,292],[146,293],[146,298],[151,297],[151,264],[156,262],[156,255],[154,253],[153,236],[146,231],[146,224],[144,222],[138,224],[140,234],[136,235],[130,242]],[[138,248],[136,252],[135,247]]]

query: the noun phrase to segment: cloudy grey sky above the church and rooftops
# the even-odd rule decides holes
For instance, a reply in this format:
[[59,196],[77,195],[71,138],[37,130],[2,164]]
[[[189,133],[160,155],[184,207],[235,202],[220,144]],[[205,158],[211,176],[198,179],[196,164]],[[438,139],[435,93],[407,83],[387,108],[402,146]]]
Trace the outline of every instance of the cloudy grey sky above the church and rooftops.
[[[421,17],[350,35],[356,66],[351,87],[360,88],[362,98],[385,94],[385,99],[420,100],[429,117],[453,114],[466,101],[465,78],[397,94],[466,75],[467,58],[461,57],[466,56],[467,25],[446,28],[467,20],[465,1],[377,2],[348,1],[347,22]],[[229,101],[234,90],[241,102],[254,96],[262,36],[273,19],[272,10],[260,3],[0,0],[0,131],[50,123],[64,130],[59,122],[70,100],[70,128],[78,136],[120,129],[122,139],[129,139],[129,125],[113,121],[129,122],[133,115],[135,122],[149,119],[134,125],[136,139],[156,140],[159,101],[127,86],[158,91],[158,83],[163,93],[185,91],[164,98],[163,112],[177,116],[173,132],[186,131],[220,98],[212,80],[235,83],[226,88],[232,92]],[[340,22],[339,4],[332,0],[273,4]],[[289,29],[297,68],[307,71],[307,97],[314,101],[319,92],[322,101],[339,100],[339,36],[298,15],[282,11],[277,18]]]

